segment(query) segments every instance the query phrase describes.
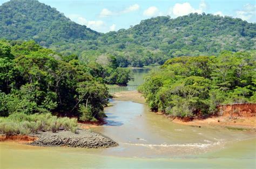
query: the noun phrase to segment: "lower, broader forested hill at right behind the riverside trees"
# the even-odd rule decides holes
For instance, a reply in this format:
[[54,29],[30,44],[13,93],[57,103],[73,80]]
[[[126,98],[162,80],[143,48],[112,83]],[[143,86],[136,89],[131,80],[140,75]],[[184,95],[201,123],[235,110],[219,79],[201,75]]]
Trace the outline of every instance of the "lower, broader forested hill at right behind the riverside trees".
[[156,17],[142,20],[130,29],[109,32],[99,39],[112,48],[118,48],[121,52],[116,53],[119,55],[131,57],[130,61],[140,59],[142,64],[163,64],[170,57],[254,50],[255,35],[255,23],[194,13],[176,19]]

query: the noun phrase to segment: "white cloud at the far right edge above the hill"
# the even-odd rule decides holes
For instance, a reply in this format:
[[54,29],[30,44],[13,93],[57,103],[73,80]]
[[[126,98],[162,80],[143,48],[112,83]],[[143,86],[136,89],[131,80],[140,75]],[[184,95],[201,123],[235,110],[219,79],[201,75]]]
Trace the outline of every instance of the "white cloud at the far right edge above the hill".
[[242,10],[235,11],[235,17],[247,20],[248,22],[255,22],[256,5],[246,4]]

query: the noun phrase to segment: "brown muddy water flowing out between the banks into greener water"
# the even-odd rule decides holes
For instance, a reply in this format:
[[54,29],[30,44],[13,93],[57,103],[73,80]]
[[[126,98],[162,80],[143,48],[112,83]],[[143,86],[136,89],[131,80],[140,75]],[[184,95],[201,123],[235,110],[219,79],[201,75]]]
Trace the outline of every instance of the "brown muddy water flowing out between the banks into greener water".
[[119,143],[104,151],[124,157],[176,158],[221,149],[227,144],[254,138],[254,132],[196,128],[170,122],[150,112],[146,105],[113,101],[105,109],[107,123],[94,129]]

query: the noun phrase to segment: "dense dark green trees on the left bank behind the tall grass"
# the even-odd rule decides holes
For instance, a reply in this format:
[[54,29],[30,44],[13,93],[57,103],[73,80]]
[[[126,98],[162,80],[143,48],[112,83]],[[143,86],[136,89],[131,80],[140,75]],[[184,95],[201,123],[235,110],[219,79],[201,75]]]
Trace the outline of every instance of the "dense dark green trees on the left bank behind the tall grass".
[[[105,83],[126,85],[129,69],[77,60],[35,41],[0,41],[0,116],[35,113],[98,121],[109,93]],[[115,76],[113,76],[115,75]]]

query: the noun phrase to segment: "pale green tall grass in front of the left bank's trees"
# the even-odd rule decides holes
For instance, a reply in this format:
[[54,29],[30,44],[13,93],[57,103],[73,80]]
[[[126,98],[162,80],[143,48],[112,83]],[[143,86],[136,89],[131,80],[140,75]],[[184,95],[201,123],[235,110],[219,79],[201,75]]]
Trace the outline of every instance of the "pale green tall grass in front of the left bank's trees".
[[12,114],[0,117],[0,133],[5,135],[37,133],[38,131],[56,132],[62,126],[65,130],[76,132],[77,119],[52,116],[51,114]]

